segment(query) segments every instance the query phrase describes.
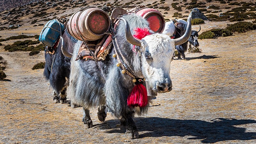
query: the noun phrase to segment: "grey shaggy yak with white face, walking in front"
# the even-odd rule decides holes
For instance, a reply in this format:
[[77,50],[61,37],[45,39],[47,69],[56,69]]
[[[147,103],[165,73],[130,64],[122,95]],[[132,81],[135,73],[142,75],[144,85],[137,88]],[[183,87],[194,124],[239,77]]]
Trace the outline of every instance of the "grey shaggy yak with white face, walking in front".
[[[121,130],[126,130],[128,139],[139,138],[139,132],[133,121],[134,114],[141,115],[147,112],[150,99],[146,107],[129,107],[127,98],[135,84],[132,78],[122,74],[121,68],[116,66],[118,61],[113,54],[121,57],[124,66],[138,78],[148,80],[148,88],[156,92],[170,92],[172,81],[170,78],[170,63],[173,59],[175,45],[186,42],[191,33],[191,16],[188,18],[186,34],[179,39],[171,39],[164,34],[152,32],[141,40],[134,38],[135,28],[149,28],[148,21],[136,15],[124,15],[119,18],[111,52],[104,61],[76,60],[79,46],[74,47],[71,59],[70,83],[68,92],[73,104],[83,107],[83,122],[86,128],[91,128],[92,120],[89,109],[98,107],[98,118],[104,121],[108,110],[121,121]],[[114,43],[114,42],[113,42]],[[136,52],[133,51],[135,45]],[[116,52],[115,52],[116,50]]]

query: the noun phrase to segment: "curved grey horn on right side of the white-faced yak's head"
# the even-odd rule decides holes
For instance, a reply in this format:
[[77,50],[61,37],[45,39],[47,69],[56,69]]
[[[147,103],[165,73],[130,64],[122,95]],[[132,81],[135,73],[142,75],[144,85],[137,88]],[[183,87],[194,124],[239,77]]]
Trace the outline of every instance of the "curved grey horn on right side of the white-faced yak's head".
[[183,36],[181,36],[180,38],[173,39],[174,44],[180,45],[180,44],[185,43],[186,41],[188,41],[190,35],[191,35],[191,13],[188,16],[188,25],[187,25],[185,34]]

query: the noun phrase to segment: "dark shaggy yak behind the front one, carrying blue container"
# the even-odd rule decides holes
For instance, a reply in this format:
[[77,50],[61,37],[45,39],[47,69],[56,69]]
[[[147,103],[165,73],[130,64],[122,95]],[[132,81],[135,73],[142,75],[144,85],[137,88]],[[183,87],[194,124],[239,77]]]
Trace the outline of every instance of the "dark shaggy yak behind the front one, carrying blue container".
[[[47,80],[49,80],[50,86],[54,90],[54,102],[60,101],[60,103],[63,104],[66,103],[67,100],[66,90],[70,74],[70,58],[63,55],[61,52],[61,46],[66,47],[66,49],[70,51],[76,42],[77,40],[69,35],[65,29],[62,35],[62,39],[55,49],[55,54],[50,55],[48,52],[44,53],[44,76]],[[49,49],[48,51],[52,50]]]

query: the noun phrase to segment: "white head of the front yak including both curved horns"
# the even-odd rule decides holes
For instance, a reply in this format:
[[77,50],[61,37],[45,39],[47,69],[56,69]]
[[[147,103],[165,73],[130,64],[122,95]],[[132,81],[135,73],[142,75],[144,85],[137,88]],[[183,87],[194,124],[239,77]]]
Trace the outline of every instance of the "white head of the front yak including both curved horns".
[[159,33],[145,36],[141,40],[136,39],[131,34],[128,22],[123,18],[118,19],[124,21],[126,40],[132,45],[139,46],[142,74],[149,82],[150,89],[156,92],[170,92],[170,62],[173,59],[175,45],[188,41],[191,34],[191,15],[188,17],[185,34],[178,39],[171,39]]

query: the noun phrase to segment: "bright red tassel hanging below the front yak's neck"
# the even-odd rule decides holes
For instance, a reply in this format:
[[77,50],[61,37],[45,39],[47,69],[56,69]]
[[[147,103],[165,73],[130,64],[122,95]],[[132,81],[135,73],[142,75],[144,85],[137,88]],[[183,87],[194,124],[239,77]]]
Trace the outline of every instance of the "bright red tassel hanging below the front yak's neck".
[[148,104],[147,89],[143,84],[136,84],[128,96],[127,104],[130,107],[145,107]]

